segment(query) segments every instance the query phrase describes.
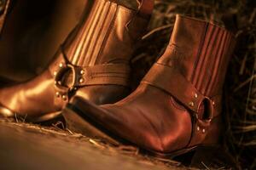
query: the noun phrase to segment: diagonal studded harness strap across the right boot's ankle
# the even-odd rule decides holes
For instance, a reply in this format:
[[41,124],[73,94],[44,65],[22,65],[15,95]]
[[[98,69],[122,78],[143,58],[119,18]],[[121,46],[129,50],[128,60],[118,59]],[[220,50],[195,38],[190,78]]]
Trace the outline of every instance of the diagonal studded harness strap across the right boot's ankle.
[[[172,80],[172,81],[170,81]],[[201,94],[195,86],[189,82],[175,66],[168,66],[156,63],[152,69],[143,78],[143,83],[165,90],[172,94],[172,97],[181,102],[187,109],[199,113],[201,105],[206,102],[208,110],[213,116],[219,114],[220,108],[216,107],[215,103],[220,102],[218,96],[214,97],[216,101]],[[213,115],[214,113],[214,115]]]

